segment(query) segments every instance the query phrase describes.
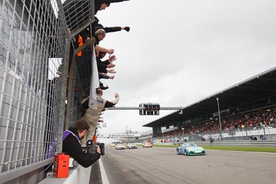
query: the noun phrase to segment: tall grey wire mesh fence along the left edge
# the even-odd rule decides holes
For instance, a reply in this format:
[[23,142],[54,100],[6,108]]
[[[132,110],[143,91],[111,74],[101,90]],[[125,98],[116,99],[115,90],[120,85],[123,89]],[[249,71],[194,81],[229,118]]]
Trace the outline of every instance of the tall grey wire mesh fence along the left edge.
[[5,182],[51,163],[61,152],[70,48],[61,1],[1,0],[0,38],[0,181]]

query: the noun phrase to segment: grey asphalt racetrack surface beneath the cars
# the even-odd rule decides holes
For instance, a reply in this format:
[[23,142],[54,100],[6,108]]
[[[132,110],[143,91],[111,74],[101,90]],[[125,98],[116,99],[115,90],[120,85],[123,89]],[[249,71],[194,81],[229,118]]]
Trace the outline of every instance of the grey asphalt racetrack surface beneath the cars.
[[276,154],[206,150],[205,156],[184,156],[176,148],[106,146],[101,160],[110,184],[276,183]]

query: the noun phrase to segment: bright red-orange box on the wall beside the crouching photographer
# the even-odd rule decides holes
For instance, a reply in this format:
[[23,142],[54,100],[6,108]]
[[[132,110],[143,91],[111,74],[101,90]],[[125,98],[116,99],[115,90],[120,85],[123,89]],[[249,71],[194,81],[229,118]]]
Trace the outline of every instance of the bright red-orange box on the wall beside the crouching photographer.
[[54,176],[57,178],[67,178],[69,172],[69,158],[67,154],[55,154]]

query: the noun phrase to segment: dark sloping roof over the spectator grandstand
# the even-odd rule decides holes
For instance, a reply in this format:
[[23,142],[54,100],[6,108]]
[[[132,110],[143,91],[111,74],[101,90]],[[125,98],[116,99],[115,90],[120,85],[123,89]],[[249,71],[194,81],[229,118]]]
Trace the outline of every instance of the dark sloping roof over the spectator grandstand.
[[[256,108],[262,108],[262,104],[267,104],[267,99],[271,99],[271,103],[275,105],[276,100],[276,67],[257,74],[245,81],[236,85],[221,90],[212,94],[205,99],[196,101],[193,104],[187,105],[182,110],[168,114],[152,121],[144,127],[160,127],[172,125],[175,122],[187,121],[197,116],[213,114],[217,112],[217,97],[219,98],[219,109],[226,110],[230,107],[247,107],[248,104],[255,103]],[[256,106],[259,105],[259,107]],[[247,105],[247,106],[246,106]],[[246,108],[246,110],[249,110]]]

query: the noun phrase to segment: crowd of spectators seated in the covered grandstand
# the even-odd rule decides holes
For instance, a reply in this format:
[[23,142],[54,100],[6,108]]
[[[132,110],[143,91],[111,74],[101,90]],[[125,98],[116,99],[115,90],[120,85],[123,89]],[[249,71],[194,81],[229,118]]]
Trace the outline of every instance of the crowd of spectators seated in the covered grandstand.
[[[257,110],[255,112],[240,113],[233,116],[221,117],[221,131],[228,132],[228,130],[242,130],[246,127],[256,127],[269,125],[276,125],[276,109]],[[197,123],[195,125],[186,125],[178,130],[171,130],[169,132],[159,133],[159,136],[182,136],[188,134],[219,132],[219,120],[210,120],[207,122]]]

